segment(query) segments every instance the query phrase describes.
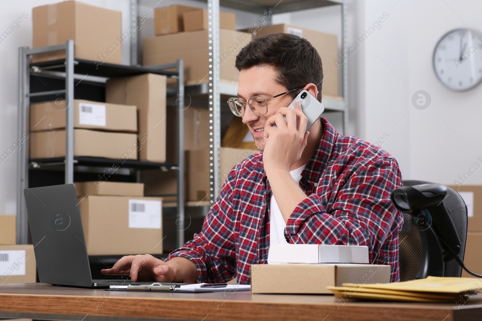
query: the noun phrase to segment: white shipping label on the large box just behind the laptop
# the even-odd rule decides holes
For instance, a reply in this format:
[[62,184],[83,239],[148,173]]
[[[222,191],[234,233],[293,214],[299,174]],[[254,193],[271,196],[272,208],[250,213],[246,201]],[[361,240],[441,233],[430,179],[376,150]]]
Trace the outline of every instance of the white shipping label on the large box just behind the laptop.
[[129,200],[130,229],[161,229],[161,201]]

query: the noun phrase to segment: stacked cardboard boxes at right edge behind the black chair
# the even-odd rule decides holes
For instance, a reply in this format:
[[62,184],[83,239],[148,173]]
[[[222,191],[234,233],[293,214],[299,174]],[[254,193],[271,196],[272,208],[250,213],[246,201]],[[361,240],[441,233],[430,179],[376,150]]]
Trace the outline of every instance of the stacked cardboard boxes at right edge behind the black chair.
[[[464,264],[474,273],[482,274],[482,185],[450,186],[459,193],[467,205],[467,241],[465,244]],[[462,270],[463,277],[472,277]]]

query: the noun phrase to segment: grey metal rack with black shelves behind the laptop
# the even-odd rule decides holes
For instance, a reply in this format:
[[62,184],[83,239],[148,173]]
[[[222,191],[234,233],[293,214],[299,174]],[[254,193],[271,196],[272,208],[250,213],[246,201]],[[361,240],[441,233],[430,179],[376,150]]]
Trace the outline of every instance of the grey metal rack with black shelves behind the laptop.
[[[37,53],[63,50],[66,58],[41,63],[30,63],[30,57]],[[74,111],[69,107],[73,105],[73,99],[89,99],[104,101],[105,82],[110,77],[129,77],[146,73],[154,73],[177,79],[174,97],[177,99],[178,120],[178,154],[177,164],[143,162],[137,160],[125,160],[120,165],[116,174],[129,175],[131,181],[139,177],[140,170],[170,168],[177,170],[177,218],[179,221],[176,244],[184,244],[184,64],[177,60],[173,64],[156,66],[137,66],[120,64],[99,64],[95,61],[74,58],[74,41],[67,40],[65,44],[49,47],[30,49],[20,47],[18,49],[20,62],[18,64],[18,135],[22,137],[29,134],[30,101],[49,101],[62,97],[66,100],[66,156],[48,159],[30,159],[29,141],[26,140],[22,149],[18,151],[19,166],[17,178],[17,244],[27,244],[29,241],[27,210],[25,206],[23,190],[31,186],[29,171],[39,173],[40,170],[49,170],[50,173],[64,172],[63,180],[58,175],[51,181],[42,181],[42,185],[69,184],[74,181],[76,173],[98,173],[102,168],[109,168],[116,159],[100,157],[77,157],[74,156]],[[166,71],[175,69],[175,71]],[[43,79],[43,81],[42,81]],[[74,79],[79,82],[74,84]],[[75,91],[74,91],[75,90]],[[88,97],[86,97],[88,96]],[[51,175],[52,176],[52,175]],[[56,181],[55,181],[56,180]]]

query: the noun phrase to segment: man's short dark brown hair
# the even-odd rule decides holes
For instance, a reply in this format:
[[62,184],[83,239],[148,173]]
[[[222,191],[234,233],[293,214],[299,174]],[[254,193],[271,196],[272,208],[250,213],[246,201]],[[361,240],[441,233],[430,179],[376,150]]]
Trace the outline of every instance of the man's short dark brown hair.
[[[278,73],[276,82],[286,90],[316,84],[317,99],[321,102],[321,58],[307,39],[273,33],[254,39],[236,56],[235,66],[239,71],[261,65],[272,66]],[[290,92],[293,98],[297,94],[297,91]]]

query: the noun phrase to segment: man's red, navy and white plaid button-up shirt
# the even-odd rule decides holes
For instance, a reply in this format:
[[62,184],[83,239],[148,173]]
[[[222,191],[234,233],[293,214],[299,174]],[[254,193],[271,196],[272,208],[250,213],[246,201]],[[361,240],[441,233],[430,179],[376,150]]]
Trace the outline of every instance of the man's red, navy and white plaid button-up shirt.
[[[324,133],[302,172],[307,194],[284,231],[292,244],[367,245],[369,261],[391,266],[391,282],[400,280],[399,240],[403,216],[390,201],[402,186],[397,161],[356,137],[342,137],[324,118]],[[194,240],[172,252],[197,267],[197,282],[226,282],[237,276],[250,283],[250,266],[266,263],[271,189],[263,153],[244,159],[229,172],[221,193]]]

